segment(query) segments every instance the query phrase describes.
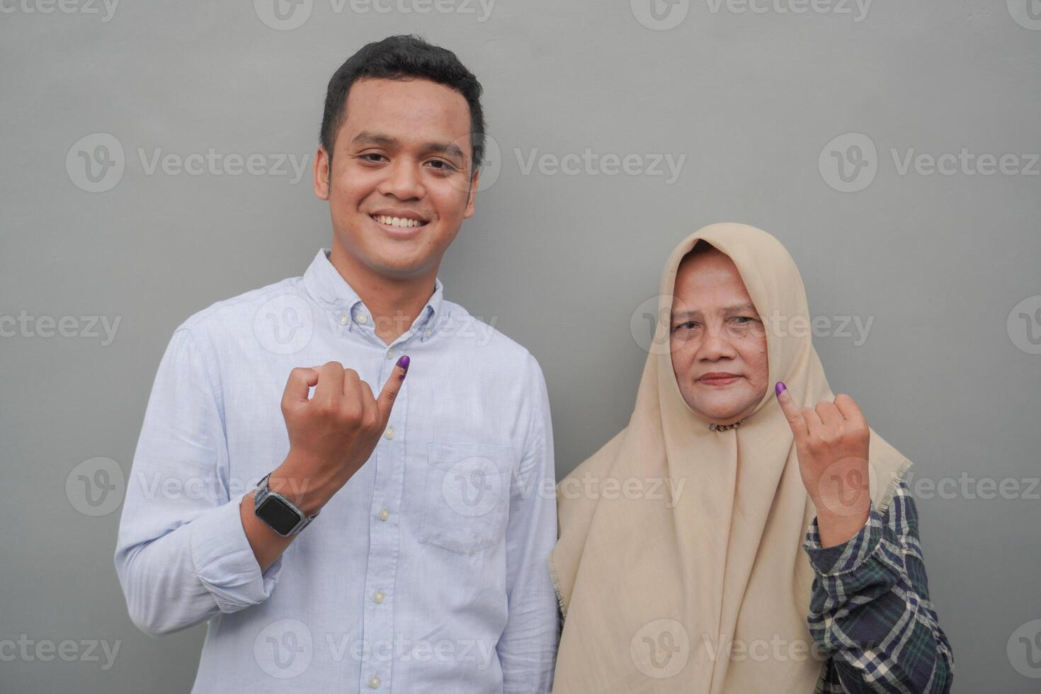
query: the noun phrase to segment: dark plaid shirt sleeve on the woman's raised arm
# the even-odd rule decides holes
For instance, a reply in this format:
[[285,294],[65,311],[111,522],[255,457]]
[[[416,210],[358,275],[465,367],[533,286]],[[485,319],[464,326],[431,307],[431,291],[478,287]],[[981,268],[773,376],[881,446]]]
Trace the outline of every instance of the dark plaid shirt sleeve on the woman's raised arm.
[[871,506],[848,542],[821,547],[817,519],[803,545],[816,572],[807,622],[829,657],[818,692],[950,691],[950,642],[929,599],[918,512],[903,482],[885,516]]

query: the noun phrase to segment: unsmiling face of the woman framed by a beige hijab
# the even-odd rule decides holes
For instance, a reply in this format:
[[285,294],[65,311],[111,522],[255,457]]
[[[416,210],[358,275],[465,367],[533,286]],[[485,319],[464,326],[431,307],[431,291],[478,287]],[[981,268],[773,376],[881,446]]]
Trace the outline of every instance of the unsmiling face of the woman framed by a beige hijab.
[[683,400],[711,423],[743,419],[766,394],[763,322],[734,261],[716,249],[680,263],[669,348]]

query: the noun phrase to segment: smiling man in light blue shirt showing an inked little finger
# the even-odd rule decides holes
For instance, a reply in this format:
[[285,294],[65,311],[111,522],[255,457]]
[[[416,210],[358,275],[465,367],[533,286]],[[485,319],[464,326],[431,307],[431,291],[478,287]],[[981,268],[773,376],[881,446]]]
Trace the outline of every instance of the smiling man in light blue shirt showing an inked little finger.
[[545,383],[437,278],[480,94],[421,38],[358,51],[314,162],[331,249],[173,334],[116,567],[142,631],[207,622],[194,692],[551,689]]

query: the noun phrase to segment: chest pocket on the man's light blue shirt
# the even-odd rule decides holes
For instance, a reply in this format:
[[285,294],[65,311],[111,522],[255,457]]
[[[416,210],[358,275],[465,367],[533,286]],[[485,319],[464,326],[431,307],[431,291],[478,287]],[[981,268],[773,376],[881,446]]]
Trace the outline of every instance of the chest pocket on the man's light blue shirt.
[[512,468],[509,446],[429,443],[416,540],[460,555],[501,542]]

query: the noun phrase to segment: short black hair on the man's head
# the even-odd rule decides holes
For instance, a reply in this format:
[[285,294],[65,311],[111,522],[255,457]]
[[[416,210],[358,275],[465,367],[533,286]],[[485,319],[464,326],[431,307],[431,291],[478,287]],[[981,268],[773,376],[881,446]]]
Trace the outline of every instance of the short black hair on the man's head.
[[348,92],[359,79],[428,79],[461,94],[469,105],[471,148],[474,151],[471,175],[481,165],[485,128],[481,83],[452,51],[429,44],[420,36],[406,34],[366,44],[349,57],[329,80],[320,139],[329,155],[330,164],[336,133],[347,119]]

